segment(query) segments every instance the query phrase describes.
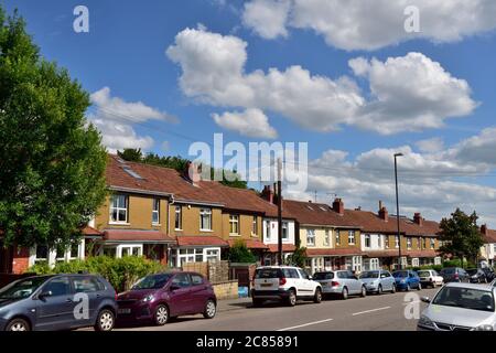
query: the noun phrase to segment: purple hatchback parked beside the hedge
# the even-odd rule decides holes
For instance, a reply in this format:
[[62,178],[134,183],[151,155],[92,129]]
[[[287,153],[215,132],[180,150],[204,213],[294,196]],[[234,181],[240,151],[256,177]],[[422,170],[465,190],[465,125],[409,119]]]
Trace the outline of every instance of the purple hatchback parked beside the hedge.
[[200,274],[164,272],[141,278],[131,290],[120,293],[117,321],[152,321],[165,324],[171,318],[202,313],[213,319],[217,298],[212,285]]

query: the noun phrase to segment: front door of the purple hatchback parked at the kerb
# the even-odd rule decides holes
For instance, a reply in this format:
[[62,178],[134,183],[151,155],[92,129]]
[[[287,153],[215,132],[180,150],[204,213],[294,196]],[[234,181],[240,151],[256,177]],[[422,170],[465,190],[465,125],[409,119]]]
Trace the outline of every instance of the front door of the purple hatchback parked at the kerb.
[[172,317],[194,312],[191,297],[191,280],[188,274],[175,274],[169,287],[169,309]]

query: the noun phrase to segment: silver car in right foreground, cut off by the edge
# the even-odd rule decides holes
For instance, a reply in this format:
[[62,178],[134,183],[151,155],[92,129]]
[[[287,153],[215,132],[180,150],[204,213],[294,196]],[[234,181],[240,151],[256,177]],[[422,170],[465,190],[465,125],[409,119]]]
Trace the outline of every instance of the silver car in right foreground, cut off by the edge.
[[496,288],[473,284],[448,284],[429,303],[417,328],[419,331],[494,331]]

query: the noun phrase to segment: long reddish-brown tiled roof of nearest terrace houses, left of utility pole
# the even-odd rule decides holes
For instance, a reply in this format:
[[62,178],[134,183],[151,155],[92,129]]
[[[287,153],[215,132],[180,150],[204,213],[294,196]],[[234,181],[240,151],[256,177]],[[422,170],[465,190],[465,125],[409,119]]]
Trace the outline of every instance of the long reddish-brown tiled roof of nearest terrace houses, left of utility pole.
[[[126,172],[125,165],[141,179]],[[276,205],[265,201],[252,190],[229,188],[216,181],[200,181],[193,185],[174,169],[128,161],[122,163],[114,154],[108,157],[106,179],[109,188],[173,194],[177,202],[218,204],[228,210],[247,211],[268,216],[278,214]],[[283,214],[283,216],[289,217],[288,214]]]

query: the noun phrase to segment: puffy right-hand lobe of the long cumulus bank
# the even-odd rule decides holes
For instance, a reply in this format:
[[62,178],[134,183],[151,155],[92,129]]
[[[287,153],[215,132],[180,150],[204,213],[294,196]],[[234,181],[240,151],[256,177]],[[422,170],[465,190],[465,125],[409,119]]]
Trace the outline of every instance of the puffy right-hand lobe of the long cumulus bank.
[[466,81],[421,53],[386,62],[358,57],[349,66],[370,85],[373,97],[355,121],[365,129],[387,135],[440,128],[445,118],[466,116],[477,106]]

